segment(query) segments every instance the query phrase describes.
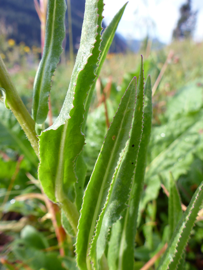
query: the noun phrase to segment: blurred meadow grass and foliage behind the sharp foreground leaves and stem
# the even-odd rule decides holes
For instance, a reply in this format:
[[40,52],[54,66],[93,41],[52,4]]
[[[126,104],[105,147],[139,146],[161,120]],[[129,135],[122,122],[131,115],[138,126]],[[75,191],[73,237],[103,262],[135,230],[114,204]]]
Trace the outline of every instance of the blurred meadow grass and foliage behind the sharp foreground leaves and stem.
[[[9,27],[1,26],[0,54],[31,113],[40,45],[32,46],[14,39],[7,32]],[[152,134],[140,203],[134,269],[140,269],[168,241],[166,191],[169,172],[177,181],[185,205],[203,179],[203,44],[192,39],[177,39],[168,46],[152,50],[150,43],[146,38],[137,53],[128,49],[119,53],[109,52],[97,80],[85,131],[87,184],[108,128],[107,123],[111,123],[132,77],[139,76],[140,53],[144,56],[145,77],[151,75],[152,86],[166,63],[153,97]],[[62,107],[71,72],[69,56],[64,54],[52,82],[53,120]],[[75,239],[63,231],[57,205],[41,193],[37,179],[38,160],[31,146],[3,103],[0,104],[0,115],[0,269],[77,269],[72,247]],[[183,269],[203,269],[202,254],[203,213],[192,231]],[[157,264],[158,260],[155,266]]]

